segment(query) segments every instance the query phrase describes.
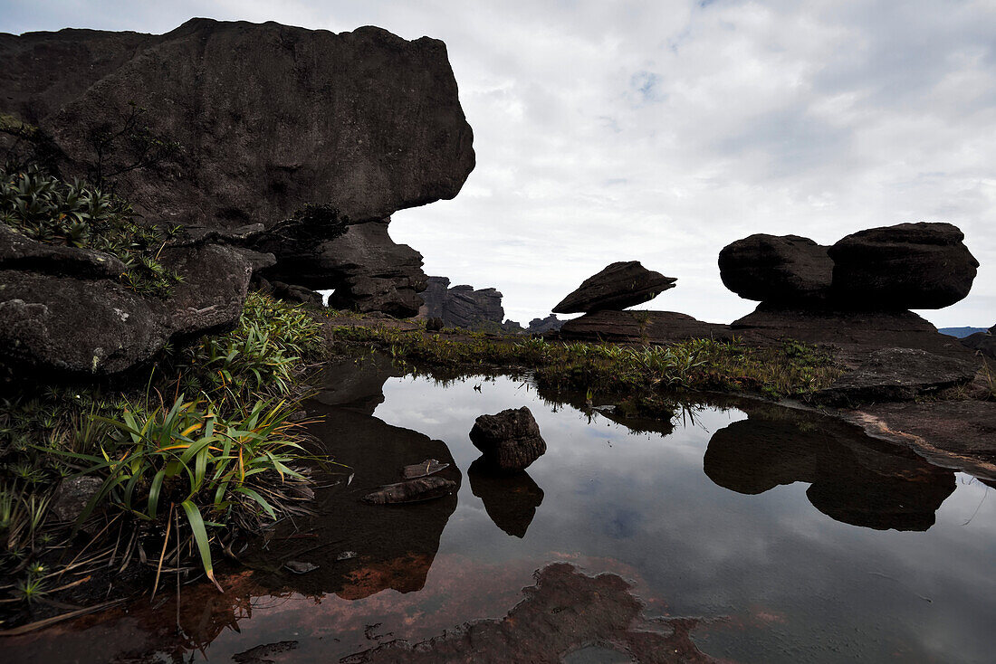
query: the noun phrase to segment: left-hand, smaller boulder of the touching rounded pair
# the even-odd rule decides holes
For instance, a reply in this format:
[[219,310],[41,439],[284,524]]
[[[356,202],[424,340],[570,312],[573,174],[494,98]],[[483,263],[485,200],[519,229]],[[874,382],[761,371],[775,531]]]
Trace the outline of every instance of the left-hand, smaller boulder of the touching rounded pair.
[[723,247],[719,277],[726,288],[745,300],[822,300],[834,273],[827,249],[798,235],[758,233]]

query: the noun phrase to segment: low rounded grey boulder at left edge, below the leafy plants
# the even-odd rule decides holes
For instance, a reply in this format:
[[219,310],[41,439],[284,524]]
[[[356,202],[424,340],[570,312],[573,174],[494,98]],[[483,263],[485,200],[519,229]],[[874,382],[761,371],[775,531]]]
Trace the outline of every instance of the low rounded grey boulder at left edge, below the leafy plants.
[[238,248],[163,249],[162,266],[183,281],[158,298],[126,289],[124,265],[113,256],[0,228],[2,239],[19,236],[0,248],[0,360],[25,375],[120,373],[167,342],[230,328],[242,313],[252,260]]

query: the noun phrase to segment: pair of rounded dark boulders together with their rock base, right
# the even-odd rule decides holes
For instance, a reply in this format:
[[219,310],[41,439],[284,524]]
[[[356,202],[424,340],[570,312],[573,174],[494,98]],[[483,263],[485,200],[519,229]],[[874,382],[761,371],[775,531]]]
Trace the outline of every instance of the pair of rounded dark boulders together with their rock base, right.
[[822,247],[795,235],[752,235],[719,254],[723,284],[761,304],[734,321],[755,341],[791,336],[864,347],[963,354],[909,309],[938,309],[968,295],[978,261],[950,224],[871,228]]

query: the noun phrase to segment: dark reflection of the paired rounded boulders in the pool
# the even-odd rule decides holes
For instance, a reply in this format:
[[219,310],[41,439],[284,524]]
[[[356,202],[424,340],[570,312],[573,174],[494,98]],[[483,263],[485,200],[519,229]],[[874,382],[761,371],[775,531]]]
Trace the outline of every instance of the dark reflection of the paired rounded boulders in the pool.
[[809,482],[820,512],[876,530],[927,530],[955,488],[953,473],[909,450],[801,416],[734,422],[712,436],[703,463],[710,480],[741,494]]

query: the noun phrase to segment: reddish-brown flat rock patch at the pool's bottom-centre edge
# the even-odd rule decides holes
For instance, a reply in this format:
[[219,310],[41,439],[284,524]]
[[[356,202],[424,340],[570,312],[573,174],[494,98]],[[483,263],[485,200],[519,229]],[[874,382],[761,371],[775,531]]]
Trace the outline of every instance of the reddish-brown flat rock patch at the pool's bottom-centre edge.
[[[341,659],[376,662],[560,662],[593,646],[610,661],[714,662],[691,639],[695,618],[642,616],[643,605],[616,574],[587,576],[561,562],[537,572],[526,599],[501,620],[479,620],[420,643],[392,641]],[[599,660],[603,661],[603,660]]]

